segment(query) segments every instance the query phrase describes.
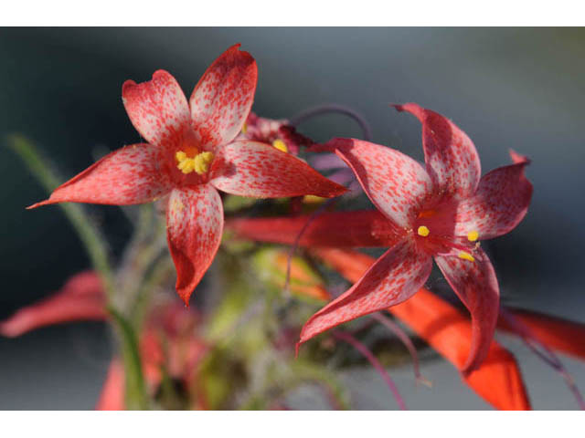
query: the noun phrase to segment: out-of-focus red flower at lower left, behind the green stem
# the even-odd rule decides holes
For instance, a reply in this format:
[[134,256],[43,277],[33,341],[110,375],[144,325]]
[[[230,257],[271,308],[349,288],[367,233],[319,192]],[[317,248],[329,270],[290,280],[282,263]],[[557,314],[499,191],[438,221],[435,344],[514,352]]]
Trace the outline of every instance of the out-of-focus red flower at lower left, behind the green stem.
[[[92,271],[72,276],[53,296],[18,310],[0,323],[0,333],[17,337],[35,328],[54,324],[108,318],[99,276]],[[197,387],[197,367],[207,351],[197,334],[198,316],[179,303],[155,306],[139,335],[144,379],[152,395],[159,390],[165,372],[187,392],[193,392],[191,409],[206,407],[205,396]],[[124,409],[124,370],[114,358],[96,409]]]

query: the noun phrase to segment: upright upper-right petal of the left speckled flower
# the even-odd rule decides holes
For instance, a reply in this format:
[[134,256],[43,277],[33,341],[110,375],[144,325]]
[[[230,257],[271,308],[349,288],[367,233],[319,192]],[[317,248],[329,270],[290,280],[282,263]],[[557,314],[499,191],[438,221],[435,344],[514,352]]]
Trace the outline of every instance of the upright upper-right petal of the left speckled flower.
[[234,140],[252,107],[258,67],[239,46],[229,47],[207,68],[191,95],[191,117],[204,146]]

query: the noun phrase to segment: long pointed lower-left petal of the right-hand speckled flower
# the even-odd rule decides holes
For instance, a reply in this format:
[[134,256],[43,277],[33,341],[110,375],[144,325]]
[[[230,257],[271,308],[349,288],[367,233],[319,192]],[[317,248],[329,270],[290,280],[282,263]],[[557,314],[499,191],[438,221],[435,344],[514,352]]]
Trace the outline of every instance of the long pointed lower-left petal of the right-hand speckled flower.
[[353,287],[304,324],[297,348],[324,330],[410,298],[427,280],[431,267],[430,255],[420,252],[412,239],[402,240],[378,258]]

